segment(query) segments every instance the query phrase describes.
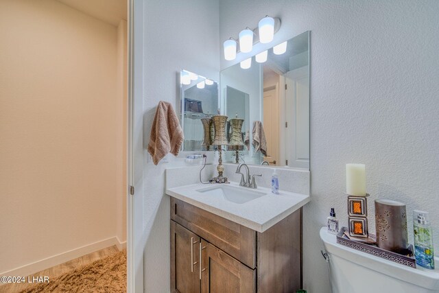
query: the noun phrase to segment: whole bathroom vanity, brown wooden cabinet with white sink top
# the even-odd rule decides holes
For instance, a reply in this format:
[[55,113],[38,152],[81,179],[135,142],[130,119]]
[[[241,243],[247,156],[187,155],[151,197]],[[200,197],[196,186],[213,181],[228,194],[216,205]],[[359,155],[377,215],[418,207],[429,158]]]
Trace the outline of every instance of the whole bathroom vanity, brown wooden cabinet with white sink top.
[[171,196],[171,292],[296,292],[309,196],[186,185]]

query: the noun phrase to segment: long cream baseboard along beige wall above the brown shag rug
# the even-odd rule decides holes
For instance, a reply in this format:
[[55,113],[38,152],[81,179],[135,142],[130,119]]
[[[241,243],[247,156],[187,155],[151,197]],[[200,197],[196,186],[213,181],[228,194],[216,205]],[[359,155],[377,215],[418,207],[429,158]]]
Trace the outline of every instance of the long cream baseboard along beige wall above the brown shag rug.
[[116,236],[110,237],[108,239],[94,242],[80,248],[66,251],[65,253],[60,253],[59,255],[54,255],[33,263],[29,263],[25,266],[20,266],[19,268],[14,268],[13,270],[1,272],[0,276],[28,276],[30,274],[40,272],[41,270],[51,268],[52,266],[56,266],[60,263],[64,263],[77,257],[82,257],[88,253],[94,253],[97,250],[101,250],[113,245],[116,245],[117,248],[121,250],[121,247],[126,246],[126,242],[119,242],[119,239]]

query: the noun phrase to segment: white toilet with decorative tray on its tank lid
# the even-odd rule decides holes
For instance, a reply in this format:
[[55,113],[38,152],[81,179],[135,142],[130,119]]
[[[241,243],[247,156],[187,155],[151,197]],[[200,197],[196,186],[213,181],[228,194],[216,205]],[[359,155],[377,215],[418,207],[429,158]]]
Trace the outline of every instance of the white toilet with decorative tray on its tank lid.
[[337,244],[326,227],[320,229],[320,238],[329,257],[333,293],[439,292],[438,257],[435,270],[415,269]]

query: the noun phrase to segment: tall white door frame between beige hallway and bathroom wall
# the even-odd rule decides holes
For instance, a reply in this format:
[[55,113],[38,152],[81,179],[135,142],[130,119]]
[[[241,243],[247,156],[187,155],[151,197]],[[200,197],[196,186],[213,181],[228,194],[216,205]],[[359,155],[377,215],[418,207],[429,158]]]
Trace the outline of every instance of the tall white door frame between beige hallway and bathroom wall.
[[127,292],[143,292],[143,0],[127,1]]

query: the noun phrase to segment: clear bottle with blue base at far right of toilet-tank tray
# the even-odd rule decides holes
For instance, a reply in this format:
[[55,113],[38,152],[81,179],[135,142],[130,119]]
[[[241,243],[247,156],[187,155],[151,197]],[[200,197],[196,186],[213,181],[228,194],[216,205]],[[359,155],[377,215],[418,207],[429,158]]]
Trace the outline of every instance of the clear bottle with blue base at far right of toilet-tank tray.
[[413,211],[413,234],[416,264],[434,270],[433,231],[427,211]]

